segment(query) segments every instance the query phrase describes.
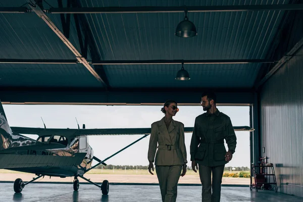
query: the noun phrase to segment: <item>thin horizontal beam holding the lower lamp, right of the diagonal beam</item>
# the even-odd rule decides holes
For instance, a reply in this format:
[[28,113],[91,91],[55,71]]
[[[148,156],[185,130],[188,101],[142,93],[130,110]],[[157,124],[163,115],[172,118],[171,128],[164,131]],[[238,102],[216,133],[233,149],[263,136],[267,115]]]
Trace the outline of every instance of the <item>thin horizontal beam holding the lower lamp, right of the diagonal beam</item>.
[[94,65],[171,65],[171,64],[248,64],[275,63],[269,60],[112,60],[93,61]]

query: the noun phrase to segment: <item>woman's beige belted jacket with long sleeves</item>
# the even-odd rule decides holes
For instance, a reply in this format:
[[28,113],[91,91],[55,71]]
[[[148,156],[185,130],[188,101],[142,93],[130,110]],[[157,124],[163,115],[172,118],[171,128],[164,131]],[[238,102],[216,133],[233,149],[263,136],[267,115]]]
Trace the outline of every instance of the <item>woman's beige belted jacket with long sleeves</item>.
[[[157,148],[158,151],[156,154]],[[186,164],[187,160],[184,142],[184,124],[172,120],[168,130],[164,123],[164,118],[151,124],[147,158],[148,161],[154,162],[155,160],[156,166]]]

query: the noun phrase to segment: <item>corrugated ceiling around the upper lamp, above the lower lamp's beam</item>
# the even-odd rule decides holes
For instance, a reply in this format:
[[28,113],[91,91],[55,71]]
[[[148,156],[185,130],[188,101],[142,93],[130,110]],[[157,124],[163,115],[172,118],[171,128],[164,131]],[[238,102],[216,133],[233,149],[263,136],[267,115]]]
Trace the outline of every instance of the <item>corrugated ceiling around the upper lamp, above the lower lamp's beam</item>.
[[[85,4],[85,3],[86,4]],[[184,1],[84,1],[83,7],[182,6]],[[185,1],[186,2],[186,1]],[[219,4],[221,2],[221,4]],[[287,1],[217,1],[213,5],[287,4]],[[188,1],[208,6],[212,1]],[[86,14],[103,60],[261,59],[279,25],[281,11],[188,13],[198,35],[174,35],[183,13]]]

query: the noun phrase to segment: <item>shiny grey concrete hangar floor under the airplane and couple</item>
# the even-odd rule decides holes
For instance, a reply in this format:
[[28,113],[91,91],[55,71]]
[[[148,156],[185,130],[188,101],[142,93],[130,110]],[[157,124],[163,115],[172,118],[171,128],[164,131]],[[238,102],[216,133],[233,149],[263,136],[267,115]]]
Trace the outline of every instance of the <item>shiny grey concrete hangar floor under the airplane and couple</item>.
[[[110,185],[109,195],[102,195],[98,187],[80,184],[79,191],[72,184],[32,183],[21,193],[15,193],[13,183],[0,183],[0,201],[161,201],[157,185]],[[178,186],[177,201],[201,201],[201,186]],[[292,201],[303,198],[275,193],[274,191],[249,190],[249,187],[222,187],[221,202],[235,201]]]

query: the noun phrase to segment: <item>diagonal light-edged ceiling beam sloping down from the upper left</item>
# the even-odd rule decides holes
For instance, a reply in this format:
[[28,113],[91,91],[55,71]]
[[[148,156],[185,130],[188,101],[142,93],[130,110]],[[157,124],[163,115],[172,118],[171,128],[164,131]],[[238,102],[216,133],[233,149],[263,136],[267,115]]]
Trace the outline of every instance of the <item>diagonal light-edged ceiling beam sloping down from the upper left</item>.
[[52,20],[41,10],[39,5],[32,5],[32,1],[28,1],[28,5],[47,25],[51,28],[57,36],[65,43],[65,45],[76,56],[79,63],[82,63],[84,67],[107,89],[106,82],[96,73],[96,71],[89,65],[87,60],[77,51],[77,48],[65,37],[65,35],[59,30],[59,28],[52,22]]

